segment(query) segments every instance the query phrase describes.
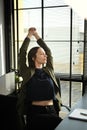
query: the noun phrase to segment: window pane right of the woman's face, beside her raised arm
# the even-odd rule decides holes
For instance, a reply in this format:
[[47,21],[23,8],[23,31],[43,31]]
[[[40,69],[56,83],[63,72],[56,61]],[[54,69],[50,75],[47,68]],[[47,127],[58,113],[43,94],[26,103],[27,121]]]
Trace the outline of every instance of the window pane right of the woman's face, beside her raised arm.
[[54,70],[58,73],[69,73],[70,44],[67,42],[46,42],[54,58]]

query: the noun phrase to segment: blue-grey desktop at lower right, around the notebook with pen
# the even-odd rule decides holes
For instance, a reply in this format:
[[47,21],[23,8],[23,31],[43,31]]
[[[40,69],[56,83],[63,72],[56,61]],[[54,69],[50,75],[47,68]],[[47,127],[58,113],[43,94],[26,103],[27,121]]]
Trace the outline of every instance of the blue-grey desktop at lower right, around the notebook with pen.
[[[87,94],[75,105],[75,108],[87,109]],[[87,130],[87,121],[69,119],[68,116],[58,125],[55,130]]]

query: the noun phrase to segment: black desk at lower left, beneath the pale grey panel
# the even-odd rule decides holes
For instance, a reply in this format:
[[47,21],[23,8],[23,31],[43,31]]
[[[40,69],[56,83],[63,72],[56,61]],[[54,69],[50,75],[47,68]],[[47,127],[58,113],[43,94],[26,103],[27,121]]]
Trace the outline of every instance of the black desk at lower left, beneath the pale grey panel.
[[17,130],[16,96],[0,95],[0,130]]

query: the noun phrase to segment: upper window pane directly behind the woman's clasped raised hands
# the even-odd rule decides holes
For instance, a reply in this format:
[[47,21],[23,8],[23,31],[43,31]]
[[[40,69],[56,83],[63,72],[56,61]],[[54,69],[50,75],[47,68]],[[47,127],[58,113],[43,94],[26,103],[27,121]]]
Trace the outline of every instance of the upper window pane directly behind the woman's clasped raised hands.
[[41,35],[41,10],[19,10],[19,40],[23,40],[30,27],[36,27]]

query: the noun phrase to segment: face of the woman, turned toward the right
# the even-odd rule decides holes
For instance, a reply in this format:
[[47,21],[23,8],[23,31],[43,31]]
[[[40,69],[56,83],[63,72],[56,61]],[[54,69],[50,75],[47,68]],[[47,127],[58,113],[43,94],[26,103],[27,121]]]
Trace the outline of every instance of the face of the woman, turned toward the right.
[[37,64],[46,64],[47,55],[43,48],[39,48],[36,53],[36,58],[34,60]]

